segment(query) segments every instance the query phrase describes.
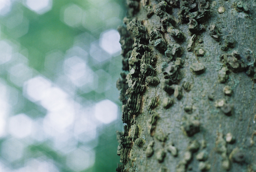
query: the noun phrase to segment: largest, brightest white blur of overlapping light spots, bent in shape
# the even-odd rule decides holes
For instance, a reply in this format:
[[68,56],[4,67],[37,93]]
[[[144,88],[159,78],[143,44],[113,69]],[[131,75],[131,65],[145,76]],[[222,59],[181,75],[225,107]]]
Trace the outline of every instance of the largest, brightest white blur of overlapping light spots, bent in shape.
[[[75,117],[75,102],[68,94],[42,76],[36,76],[23,87],[23,94],[33,102],[40,104],[47,110],[44,117],[44,129],[49,135],[65,132],[65,128],[72,125]],[[48,128],[54,131],[49,131]]]

